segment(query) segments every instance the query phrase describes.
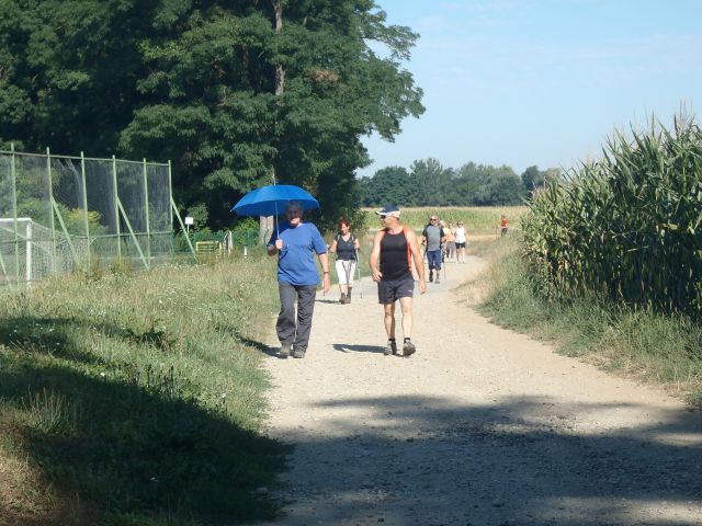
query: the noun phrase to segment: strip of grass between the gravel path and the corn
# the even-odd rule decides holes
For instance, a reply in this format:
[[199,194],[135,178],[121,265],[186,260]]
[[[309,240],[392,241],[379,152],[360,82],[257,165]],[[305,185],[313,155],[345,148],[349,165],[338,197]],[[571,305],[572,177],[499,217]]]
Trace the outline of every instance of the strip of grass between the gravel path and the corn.
[[548,300],[520,256],[517,237],[476,247],[489,270],[477,309],[496,323],[551,341],[557,352],[666,387],[702,407],[702,328],[684,317],[593,299]]

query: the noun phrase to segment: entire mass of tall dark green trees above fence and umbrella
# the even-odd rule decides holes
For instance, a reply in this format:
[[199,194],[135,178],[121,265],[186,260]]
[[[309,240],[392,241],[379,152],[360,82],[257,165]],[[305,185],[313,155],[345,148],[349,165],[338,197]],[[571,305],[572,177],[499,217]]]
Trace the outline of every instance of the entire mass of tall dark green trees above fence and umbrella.
[[403,68],[417,35],[372,0],[0,0],[0,140],[172,159],[212,226],[273,176],[333,221],[361,137],[423,111]]

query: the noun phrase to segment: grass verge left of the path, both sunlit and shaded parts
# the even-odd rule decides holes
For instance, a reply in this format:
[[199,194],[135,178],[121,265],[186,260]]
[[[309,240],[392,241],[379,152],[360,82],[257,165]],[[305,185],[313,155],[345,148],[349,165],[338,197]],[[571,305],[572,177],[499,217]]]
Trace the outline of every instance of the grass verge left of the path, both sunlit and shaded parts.
[[274,262],[46,281],[0,306],[0,524],[270,518]]

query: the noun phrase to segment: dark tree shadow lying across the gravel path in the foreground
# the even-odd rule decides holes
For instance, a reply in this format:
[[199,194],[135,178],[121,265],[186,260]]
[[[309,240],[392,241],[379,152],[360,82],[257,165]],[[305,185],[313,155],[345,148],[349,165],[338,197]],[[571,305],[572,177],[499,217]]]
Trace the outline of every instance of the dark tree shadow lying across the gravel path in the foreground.
[[602,425],[589,434],[585,421],[624,407],[552,402],[330,400],[325,413],[353,412],[365,425],[347,416],[328,420],[333,437],[296,433],[297,458],[307,464],[291,474],[306,492],[291,488],[293,512],[284,523],[702,524],[700,413],[670,412],[649,426],[605,433]]

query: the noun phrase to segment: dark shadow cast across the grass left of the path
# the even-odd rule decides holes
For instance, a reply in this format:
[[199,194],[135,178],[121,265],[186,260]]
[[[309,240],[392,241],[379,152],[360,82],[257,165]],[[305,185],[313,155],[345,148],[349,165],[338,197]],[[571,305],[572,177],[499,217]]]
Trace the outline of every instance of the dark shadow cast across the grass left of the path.
[[[101,376],[110,369],[77,351],[71,323],[2,322],[0,434],[12,442],[0,445],[11,444],[38,471],[43,487],[27,490],[52,488],[56,499],[33,517],[0,502],[0,524],[234,524],[275,516],[276,505],[256,490],[273,483],[286,448],[239,426],[224,409],[204,407],[196,387],[172,369]],[[120,338],[155,343],[150,334]]]

